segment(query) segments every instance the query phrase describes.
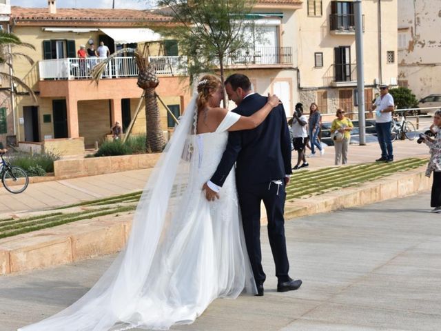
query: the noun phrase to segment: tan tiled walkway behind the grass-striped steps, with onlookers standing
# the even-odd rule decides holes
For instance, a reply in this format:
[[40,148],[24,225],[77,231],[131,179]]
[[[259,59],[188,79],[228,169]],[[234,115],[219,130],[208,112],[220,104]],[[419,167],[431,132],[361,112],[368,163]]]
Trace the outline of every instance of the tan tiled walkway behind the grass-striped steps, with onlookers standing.
[[[396,141],[393,143],[396,159],[406,157],[427,157],[427,147],[416,141]],[[349,147],[349,164],[371,162],[380,157],[378,144]],[[297,153],[293,153],[293,165]],[[329,146],[323,157],[308,159],[311,169],[334,165],[334,147]],[[111,197],[118,194],[142,190],[152,170],[131,170],[91,177],[65,179],[33,183],[21,194],[11,194],[0,187],[0,218],[17,212],[51,209],[81,201]]]

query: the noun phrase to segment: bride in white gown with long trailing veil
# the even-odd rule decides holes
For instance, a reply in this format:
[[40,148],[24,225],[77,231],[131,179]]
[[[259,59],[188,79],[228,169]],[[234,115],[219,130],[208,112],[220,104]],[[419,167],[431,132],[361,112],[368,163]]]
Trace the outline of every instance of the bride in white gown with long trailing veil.
[[145,186],[125,250],[81,299],[19,331],[167,330],[194,322],[216,298],[256,293],[234,171],[220,199],[208,202],[202,187],[228,131],[256,128],[279,99],[241,117],[219,108],[216,77],[202,77],[197,91]]

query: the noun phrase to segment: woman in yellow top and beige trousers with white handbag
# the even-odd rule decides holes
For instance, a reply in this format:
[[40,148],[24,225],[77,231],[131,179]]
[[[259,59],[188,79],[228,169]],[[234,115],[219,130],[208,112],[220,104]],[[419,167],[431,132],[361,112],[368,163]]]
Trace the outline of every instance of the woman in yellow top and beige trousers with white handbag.
[[351,119],[345,117],[344,110],[338,109],[336,117],[331,125],[331,139],[334,141],[334,148],[336,148],[335,164],[340,164],[340,160],[342,164],[346,164],[347,150],[349,148],[349,141],[351,140],[353,124]]

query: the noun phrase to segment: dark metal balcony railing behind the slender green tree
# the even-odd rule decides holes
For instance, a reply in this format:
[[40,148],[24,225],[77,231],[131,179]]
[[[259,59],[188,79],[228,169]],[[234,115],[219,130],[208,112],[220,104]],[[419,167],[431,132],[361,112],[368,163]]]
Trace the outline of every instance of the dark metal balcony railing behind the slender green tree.
[[256,47],[238,50],[227,65],[291,64],[292,47]]

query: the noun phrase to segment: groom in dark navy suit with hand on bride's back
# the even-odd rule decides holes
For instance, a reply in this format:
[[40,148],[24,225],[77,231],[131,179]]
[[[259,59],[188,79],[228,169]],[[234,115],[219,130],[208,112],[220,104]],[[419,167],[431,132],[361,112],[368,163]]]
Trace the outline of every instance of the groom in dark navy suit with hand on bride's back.
[[[250,116],[267,103],[267,97],[253,93],[251,82],[244,74],[232,74],[225,81],[229,100],[236,103],[232,110]],[[297,290],[302,281],[288,275],[289,262],[285,243],[285,185],[291,174],[291,143],[283,105],[272,110],[267,119],[254,130],[229,132],[227,148],[216,172],[204,185],[208,200],[217,196],[236,162],[236,183],[243,230],[251,261],[258,296],[263,296],[265,272],[260,250],[260,202],[265,203],[268,237],[276,264],[277,291]]]

